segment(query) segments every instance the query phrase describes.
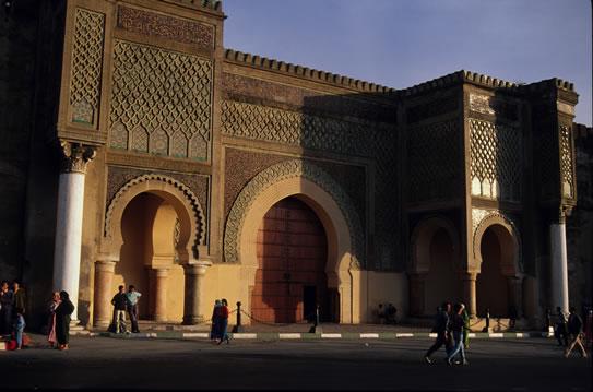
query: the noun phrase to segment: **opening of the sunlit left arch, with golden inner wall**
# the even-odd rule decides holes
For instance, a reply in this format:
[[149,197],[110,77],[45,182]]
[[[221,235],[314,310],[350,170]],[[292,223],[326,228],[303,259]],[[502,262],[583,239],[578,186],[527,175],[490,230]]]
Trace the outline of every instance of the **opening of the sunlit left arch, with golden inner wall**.
[[[156,304],[165,304],[167,321],[180,322],[183,316],[183,269],[179,218],[175,207],[157,192],[143,192],[126,206],[121,217],[123,243],[116,264],[111,292],[119,285],[134,285],[142,294],[139,318],[155,318]],[[166,287],[157,293],[156,270],[167,271]],[[162,295],[163,298],[157,298]]]

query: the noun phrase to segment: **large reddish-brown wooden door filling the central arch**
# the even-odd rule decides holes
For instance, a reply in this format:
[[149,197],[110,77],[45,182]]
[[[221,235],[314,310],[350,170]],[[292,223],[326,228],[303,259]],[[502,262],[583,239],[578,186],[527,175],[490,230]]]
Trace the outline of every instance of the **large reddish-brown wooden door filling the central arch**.
[[[257,237],[258,270],[251,293],[256,320],[293,323],[310,319],[316,305],[330,309],[328,240],[316,213],[296,197],[275,203]],[[325,320],[331,318],[328,311]]]

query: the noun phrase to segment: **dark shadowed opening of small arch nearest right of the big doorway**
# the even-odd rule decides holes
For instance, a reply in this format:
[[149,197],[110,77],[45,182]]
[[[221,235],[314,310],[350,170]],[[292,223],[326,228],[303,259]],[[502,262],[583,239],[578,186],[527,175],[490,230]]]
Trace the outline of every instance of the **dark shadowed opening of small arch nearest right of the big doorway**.
[[429,242],[430,269],[425,283],[425,313],[434,314],[442,301],[459,301],[461,281],[455,268],[453,240],[443,227]]

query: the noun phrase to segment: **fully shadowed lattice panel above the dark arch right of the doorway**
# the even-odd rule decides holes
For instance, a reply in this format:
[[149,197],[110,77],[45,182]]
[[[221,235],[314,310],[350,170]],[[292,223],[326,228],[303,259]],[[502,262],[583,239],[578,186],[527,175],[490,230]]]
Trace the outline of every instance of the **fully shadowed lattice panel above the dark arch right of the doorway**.
[[456,119],[407,131],[410,201],[442,200],[454,195],[461,169],[460,136]]

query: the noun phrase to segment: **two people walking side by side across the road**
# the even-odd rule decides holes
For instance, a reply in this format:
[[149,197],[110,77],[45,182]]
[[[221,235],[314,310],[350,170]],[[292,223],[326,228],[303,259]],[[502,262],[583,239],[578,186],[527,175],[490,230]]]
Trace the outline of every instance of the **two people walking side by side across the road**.
[[[470,364],[465,352],[470,347],[470,316],[465,310],[465,305],[460,302],[451,308],[451,302],[444,301],[438,308],[432,332],[437,333],[437,340],[424,355],[425,361],[432,364],[430,356],[444,346],[447,351],[447,364]],[[458,354],[460,356],[459,359],[455,358]]]

